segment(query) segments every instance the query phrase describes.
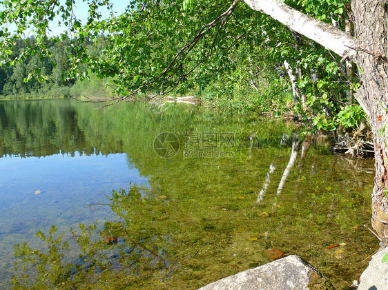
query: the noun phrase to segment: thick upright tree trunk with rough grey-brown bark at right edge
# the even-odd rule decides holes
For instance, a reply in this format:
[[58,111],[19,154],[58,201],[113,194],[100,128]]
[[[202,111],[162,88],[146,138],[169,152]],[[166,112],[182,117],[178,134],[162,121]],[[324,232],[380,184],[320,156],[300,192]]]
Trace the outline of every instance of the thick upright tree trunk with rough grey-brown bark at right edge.
[[[356,62],[360,66],[361,87],[356,99],[364,100],[375,147],[376,176],[372,193],[372,225],[388,245],[388,78],[387,78],[387,10],[385,1],[353,0],[356,37]],[[388,195],[388,191],[387,191]]]

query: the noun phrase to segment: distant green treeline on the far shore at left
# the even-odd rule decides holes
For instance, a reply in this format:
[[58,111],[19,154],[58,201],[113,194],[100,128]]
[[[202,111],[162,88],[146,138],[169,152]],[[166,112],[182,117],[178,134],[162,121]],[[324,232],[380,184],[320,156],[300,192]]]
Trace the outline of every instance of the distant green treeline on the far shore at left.
[[[14,45],[12,59],[17,58],[23,48],[34,45],[34,37],[19,40]],[[99,55],[104,48],[104,38],[99,43],[90,43],[86,49]],[[95,74],[90,74],[87,80],[77,81],[65,76],[70,65],[72,53],[70,40],[62,39],[56,43],[50,43],[51,59],[39,59],[38,55],[26,57],[15,65],[0,66],[0,99],[41,99],[41,98],[106,98],[111,90],[106,87],[107,81],[97,79]],[[26,81],[28,75],[37,67],[41,68],[41,74],[46,81],[38,81],[32,78]]]

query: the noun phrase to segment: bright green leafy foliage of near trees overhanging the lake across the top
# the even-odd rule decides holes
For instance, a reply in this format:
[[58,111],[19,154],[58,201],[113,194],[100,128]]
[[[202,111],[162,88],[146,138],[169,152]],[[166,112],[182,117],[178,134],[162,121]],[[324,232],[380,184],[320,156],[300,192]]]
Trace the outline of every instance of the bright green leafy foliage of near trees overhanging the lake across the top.
[[[349,18],[343,1],[286,2],[329,23]],[[110,3],[95,0],[90,2],[84,24],[72,14],[74,6],[74,0],[64,4],[4,1],[0,25],[18,23],[15,34],[7,28],[0,35],[1,55],[6,56],[3,64],[16,65],[14,86],[23,86],[17,81],[21,76],[30,79],[35,74],[45,79],[41,64],[55,56],[56,70],[66,72],[67,79],[86,78],[89,72],[111,78],[119,100],[175,90],[177,94],[193,92],[210,105],[240,112],[282,112],[291,100],[289,82],[284,81],[283,64],[287,61],[297,76],[300,101],[295,112],[313,129],[336,130],[340,125],[356,125],[363,118],[353,109],[345,109],[353,105],[346,94],[357,77],[347,76],[338,57],[253,12],[242,1],[130,1],[121,15],[111,13],[103,19],[99,7],[110,8]],[[68,25],[71,37],[47,37],[55,17]],[[37,35],[35,42],[12,56],[12,45],[23,39],[28,29]],[[59,40],[67,41],[66,65],[50,50]],[[90,43],[95,43],[97,50]],[[17,63],[34,57],[37,65],[27,70],[18,67]],[[56,70],[52,71],[55,75]],[[351,112],[355,114],[350,116]],[[345,120],[347,116],[353,120]]]

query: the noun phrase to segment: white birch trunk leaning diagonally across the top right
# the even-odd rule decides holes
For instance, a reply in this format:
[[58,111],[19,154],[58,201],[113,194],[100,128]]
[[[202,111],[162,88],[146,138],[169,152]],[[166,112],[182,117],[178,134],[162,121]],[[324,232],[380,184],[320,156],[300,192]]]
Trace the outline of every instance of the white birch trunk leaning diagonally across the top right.
[[291,30],[304,35],[342,57],[356,56],[356,42],[346,32],[328,23],[313,19],[279,0],[244,0],[253,10],[268,14]]

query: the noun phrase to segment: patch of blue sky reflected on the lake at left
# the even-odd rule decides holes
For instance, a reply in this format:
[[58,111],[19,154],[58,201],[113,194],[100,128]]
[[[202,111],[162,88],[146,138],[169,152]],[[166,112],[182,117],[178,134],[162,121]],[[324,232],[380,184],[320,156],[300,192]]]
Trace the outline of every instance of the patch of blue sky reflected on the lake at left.
[[3,265],[10,267],[2,267],[4,275],[12,273],[13,244],[34,243],[35,231],[52,225],[68,231],[79,223],[115,218],[112,211],[92,205],[106,203],[106,194],[130,182],[148,185],[130,167],[126,154],[0,158],[0,251]]

